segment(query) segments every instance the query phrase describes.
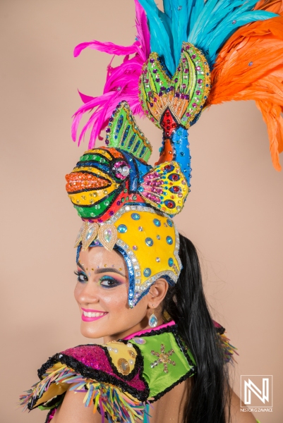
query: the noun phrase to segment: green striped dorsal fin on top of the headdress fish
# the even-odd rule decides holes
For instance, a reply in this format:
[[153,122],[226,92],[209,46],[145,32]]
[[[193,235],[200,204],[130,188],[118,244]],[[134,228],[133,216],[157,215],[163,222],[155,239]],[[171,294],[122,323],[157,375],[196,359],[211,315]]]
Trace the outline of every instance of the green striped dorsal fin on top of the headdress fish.
[[106,143],[133,154],[137,159],[148,161],[152,147],[136,124],[126,102],[121,102],[109,119]]

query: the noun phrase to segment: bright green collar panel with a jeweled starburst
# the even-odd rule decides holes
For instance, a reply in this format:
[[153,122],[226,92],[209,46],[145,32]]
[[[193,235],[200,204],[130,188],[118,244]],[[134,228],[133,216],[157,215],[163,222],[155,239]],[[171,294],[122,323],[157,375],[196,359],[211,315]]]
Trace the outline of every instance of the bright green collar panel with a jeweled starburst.
[[155,397],[178,383],[188,372],[192,371],[193,374],[194,361],[191,352],[187,350],[192,361],[189,364],[173,333],[141,336],[129,342],[137,345],[144,357],[143,377],[150,386],[150,397]]

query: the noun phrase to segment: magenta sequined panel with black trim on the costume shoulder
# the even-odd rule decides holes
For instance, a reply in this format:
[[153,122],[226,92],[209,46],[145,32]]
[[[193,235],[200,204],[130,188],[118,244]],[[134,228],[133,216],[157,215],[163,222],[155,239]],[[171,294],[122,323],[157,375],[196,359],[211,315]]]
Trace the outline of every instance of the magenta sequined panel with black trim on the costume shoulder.
[[138,389],[138,391],[145,390],[145,384],[140,379],[139,373],[131,379],[131,381],[125,381],[123,377],[117,376],[103,348],[100,345],[79,345],[75,348],[68,348],[62,352],[64,355],[68,355],[69,357],[76,358],[80,363],[85,364],[85,366],[91,367],[95,370],[102,370],[109,374],[109,376],[114,377],[115,379],[124,381],[124,383],[128,384],[128,386],[132,386],[133,388]]

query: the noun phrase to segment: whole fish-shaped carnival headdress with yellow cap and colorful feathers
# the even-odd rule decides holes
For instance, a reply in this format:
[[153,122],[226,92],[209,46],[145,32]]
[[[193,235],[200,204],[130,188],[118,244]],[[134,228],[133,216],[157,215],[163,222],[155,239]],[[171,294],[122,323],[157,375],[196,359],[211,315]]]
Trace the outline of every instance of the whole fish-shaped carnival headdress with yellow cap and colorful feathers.
[[[210,104],[255,99],[270,135],[272,161],[283,149],[283,18],[281,1],[135,0],[138,35],[130,47],[97,41],[78,45],[125,56],[107,68],[104,94],[80,94],[92,111],[80,140],[91,129],[88,152],[66,176],[68,195],[83,219],[76,247],[116,248],[126,260],[131,307],[157,278],[176,283],[179,235],[172,217],[190,190],[187,129]],[[147,17],[145,15],[147,14]],[[130,58],[130,55],[134,54]],[[133,115],[145,115],[163,130],[160,158]],[[107,147],[95,147],[106,128]]]

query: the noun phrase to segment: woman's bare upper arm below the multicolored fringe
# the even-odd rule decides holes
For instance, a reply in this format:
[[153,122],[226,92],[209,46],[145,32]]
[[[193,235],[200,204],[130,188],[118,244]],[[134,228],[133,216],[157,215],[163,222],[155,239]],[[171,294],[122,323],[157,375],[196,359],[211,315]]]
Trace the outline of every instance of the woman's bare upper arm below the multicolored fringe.
[[67,391],[61,407],[56,411],[52,423],[101,423],[99,412],[93,414],[93,406],[85,407],[85,393]]

